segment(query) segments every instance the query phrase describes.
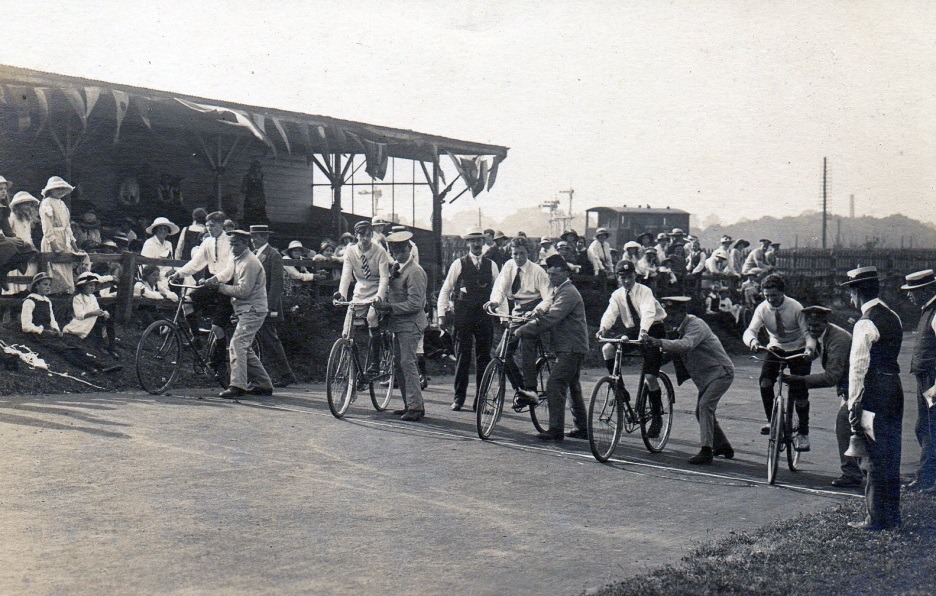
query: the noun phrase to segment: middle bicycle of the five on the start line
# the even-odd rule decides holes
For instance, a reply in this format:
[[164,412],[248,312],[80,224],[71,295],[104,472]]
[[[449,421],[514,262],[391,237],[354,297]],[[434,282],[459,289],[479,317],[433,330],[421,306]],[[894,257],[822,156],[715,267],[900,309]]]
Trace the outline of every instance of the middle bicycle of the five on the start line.
[[[529,321],[524,317],[501,315],[491,310],[488,310],[487,314],[505,319],[511,323]],[[478,387],[474,409],[478,436],[482,439],[488,439],[491,436],[504,410],[504,398],[507,393],[507,345],[513,339],[513,336],[514,328],[508,326],[497,344],[497,353],[488,362],[481,377],[481,386]],[[551,357],[546,352],[542,340],[536,338],[536,393],[539,396],[539,403],[530,407],[530,418],[533,426],[541,433],[549,431],[549,402],[546,399],[546,382],[549,380],[550,360]],[[524,410],[515,406],[514,411],[519,414]]]

